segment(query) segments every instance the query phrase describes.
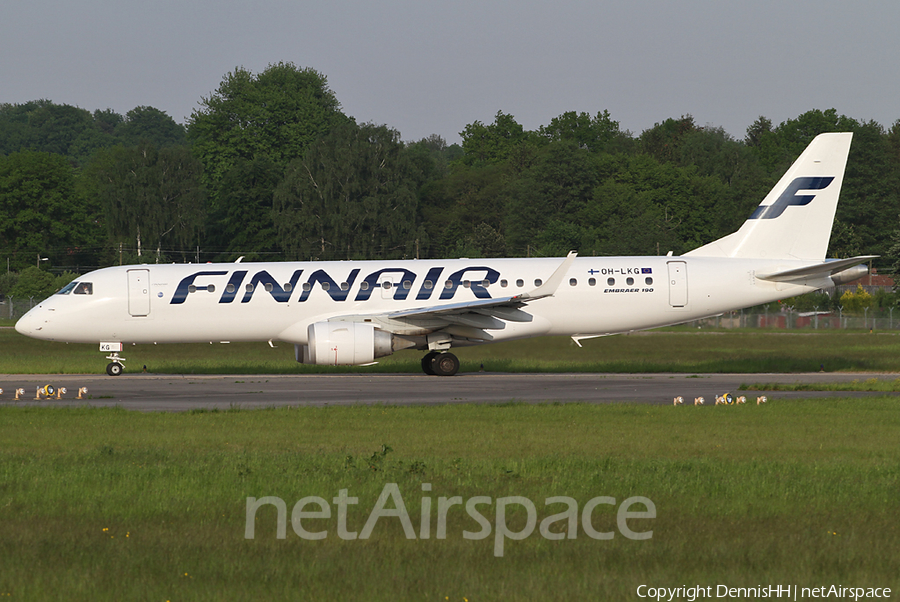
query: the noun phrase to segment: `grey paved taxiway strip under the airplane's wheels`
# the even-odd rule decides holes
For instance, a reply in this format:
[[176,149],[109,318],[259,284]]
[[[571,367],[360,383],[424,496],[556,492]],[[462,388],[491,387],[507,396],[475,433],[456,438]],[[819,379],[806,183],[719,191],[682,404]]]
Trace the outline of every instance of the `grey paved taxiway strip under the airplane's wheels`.
[[[138,411],[220,410],[232,407],[325,406],[349,404],[446,404],[505,402],[585,402],[671,404],[681,395],[686,404],[730,392],[739,395],[741,384],[831,383],[879,378],[896,374],[495,374],[464,373],[453,377],[413,374],[340,375],[0,375],[2,405],[120,406]],[[36,389],[51,384],[65,387],[62,399],[35,400]],[[87,387],[85,399],[75,396]],[[15,389],[22,399],[13,399]],[[865,396],[884,393],[750,391],[773,398]]]

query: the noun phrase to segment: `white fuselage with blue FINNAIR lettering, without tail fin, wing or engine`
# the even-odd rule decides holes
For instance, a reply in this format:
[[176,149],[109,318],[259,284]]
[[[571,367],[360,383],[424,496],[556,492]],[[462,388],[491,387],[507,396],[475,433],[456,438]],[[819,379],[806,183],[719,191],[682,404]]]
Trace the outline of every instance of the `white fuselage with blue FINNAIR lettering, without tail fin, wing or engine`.
[[[821,280],[784,284],[755,275],[815,263],[579,257],[553,296],[522,308],[529,321],[505,321],[490,334],[500,341],[677,324],[814,290]],[[534,290],[559,266],[560,259],[551,258],[111,267],[78,279],[90,283],[90,294],[53,295],[16,328],[31,337],[72,343],[281,340],[302,345],[315,322],[514,296]],[[424,334],[415,330],[393,332]]]

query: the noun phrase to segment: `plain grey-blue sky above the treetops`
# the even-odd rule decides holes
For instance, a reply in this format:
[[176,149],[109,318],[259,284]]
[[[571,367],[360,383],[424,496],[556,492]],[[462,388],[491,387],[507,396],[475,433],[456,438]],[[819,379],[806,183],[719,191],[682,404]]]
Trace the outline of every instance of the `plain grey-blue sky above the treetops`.
[[742,139],[837,109],[900,119],[900,2],[29,0],[0,21],[0,103],[186,123],[223,76],[291,62],[344,112],[449,143],[498,111],[526,129],[608,110],[634,134],[690,114]]

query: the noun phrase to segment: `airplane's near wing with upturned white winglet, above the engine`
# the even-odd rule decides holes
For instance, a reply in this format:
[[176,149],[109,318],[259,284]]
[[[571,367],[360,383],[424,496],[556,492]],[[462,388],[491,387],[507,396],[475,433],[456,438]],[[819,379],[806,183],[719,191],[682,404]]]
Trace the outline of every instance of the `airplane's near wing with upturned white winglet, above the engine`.
[[546,282],[527,293],[495,299],[430,305],[380,314],[336,316],[330,318],[329,321],[373,322],[379,328],[399,335],[426,334],[435,330],[447,330],[450,334],[465,338],[491,340],[493,337],[486,331],[501,330],[506,327],[506,321],[531,322],[533,316],[522,311],[521,308],[532,301],[552,297],[576,256],[577,253],[570,252]]

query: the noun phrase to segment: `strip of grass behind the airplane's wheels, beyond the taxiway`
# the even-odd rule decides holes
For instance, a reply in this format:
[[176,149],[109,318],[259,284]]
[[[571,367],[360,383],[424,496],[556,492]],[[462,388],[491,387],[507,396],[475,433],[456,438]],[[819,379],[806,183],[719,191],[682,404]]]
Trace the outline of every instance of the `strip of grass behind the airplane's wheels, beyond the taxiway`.
[[[127,371],[158,374],[291,374],[421,372],[422,352],[402,351],[375,366],[304,366],[293,345],[278,343],[136,345],[126,347]],[[900,336],[868,332],[784,333],[676,329],[603,337],[576,346],[543,337],[454,349],[461,370],[488,372],[900,372]],[[102,373],[96,345],[36,341],[0,330],[0,374]]]

